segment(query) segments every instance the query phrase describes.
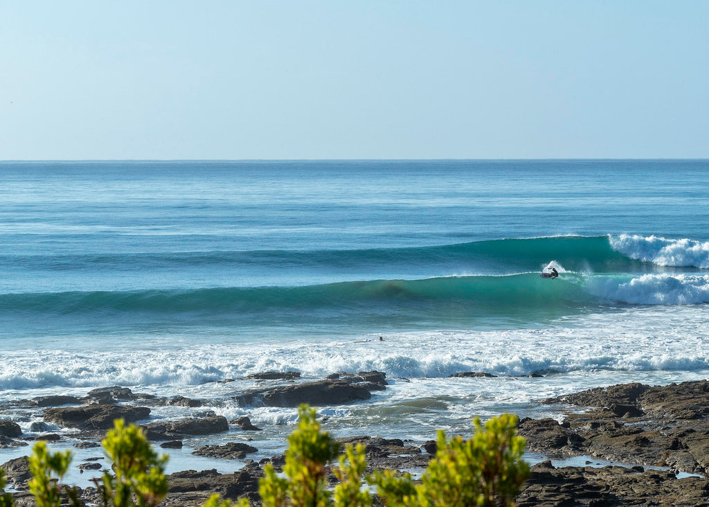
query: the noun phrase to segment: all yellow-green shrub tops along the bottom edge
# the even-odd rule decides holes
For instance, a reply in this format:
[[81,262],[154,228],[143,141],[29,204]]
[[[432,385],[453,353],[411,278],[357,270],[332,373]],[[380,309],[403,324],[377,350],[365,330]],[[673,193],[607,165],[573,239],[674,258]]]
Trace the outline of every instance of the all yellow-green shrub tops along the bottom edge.
[[[411,474],[391,470],[365,477],[364,446],[340,444],[320,429],[316,411],[298,409],[298,428],[289,436],[283,473],[271,464],[264,467],[259,482],[264,507],[370,507],[372,495],[366,484],[375,486],[387,507],[511,507],[529,474],[522,460],[525,439],[516,435],[516,416],[505,414],[482,425],[475,418],[474,435],[469,440],[455,436],[448,440],[438,432],[437,453],[420,480]],[[158,456],[143,430],[116,420],[113,430],[101,441],[113,462],[113,473],[95,479],[104,507],[156,507],[167,494],[164,467],[167,456]],[[77,488],[61,484],[72,453],[48,452],[46,442],[37,442],[29,458],[33,479],[30,491],[38,507],[60,507],[62,489],[69,503],[81,506]],[[328,487],[330,464],[338,482]],[[0,470],[0,507],[13,507],[13,498],[4,492]],[[248,507],[241,498],[234,507]],[[231,507],[213,495],[203,507]]]

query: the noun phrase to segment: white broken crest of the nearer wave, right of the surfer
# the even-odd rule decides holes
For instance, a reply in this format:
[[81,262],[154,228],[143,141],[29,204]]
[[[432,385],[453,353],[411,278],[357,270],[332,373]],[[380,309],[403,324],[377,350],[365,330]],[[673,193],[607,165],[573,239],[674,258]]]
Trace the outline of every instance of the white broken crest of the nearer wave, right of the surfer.
[[709,303],[709,275],[644,274],[624,281],[617,277],[594,279],[596,296],[631,304],[682,305]]

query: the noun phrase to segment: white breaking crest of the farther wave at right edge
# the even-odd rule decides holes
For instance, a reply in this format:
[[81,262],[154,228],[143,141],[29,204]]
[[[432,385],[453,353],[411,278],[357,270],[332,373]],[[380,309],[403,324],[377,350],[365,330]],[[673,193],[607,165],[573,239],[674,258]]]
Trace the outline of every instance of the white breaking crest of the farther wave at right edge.
[[698,267],[709,269],[709,241],[668,240],[652,235],[621,234],[610,238],[613,250],[631,259],[652,262],[660,266]]

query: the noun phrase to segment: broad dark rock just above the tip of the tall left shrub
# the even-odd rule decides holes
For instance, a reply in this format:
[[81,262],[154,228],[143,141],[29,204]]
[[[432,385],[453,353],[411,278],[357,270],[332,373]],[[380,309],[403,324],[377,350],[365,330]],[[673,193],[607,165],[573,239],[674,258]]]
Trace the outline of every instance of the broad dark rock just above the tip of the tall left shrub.
[[44,418],[67,428],[108,430],[113,421],[123,419],[126,423],[150,416],[150,408],[121,405],[88,405],[80,407],[45,408]]

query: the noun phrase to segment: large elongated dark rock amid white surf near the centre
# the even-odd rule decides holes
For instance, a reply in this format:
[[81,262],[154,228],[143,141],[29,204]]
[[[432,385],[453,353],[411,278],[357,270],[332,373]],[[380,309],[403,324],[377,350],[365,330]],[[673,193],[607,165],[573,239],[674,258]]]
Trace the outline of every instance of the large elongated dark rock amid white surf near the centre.
[[340,405],[367,400],[372,395],[364,387],[342,380],[323,380],[283,386],[265,392],[261,397],[269,406],[295,407],[301,403],[312,406]]

